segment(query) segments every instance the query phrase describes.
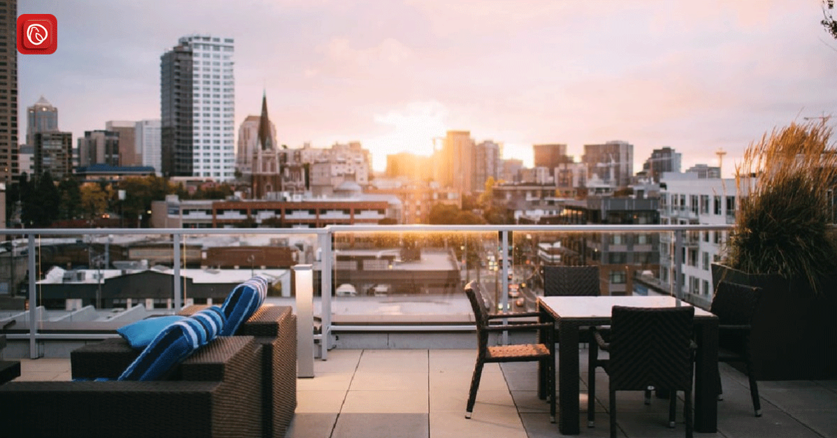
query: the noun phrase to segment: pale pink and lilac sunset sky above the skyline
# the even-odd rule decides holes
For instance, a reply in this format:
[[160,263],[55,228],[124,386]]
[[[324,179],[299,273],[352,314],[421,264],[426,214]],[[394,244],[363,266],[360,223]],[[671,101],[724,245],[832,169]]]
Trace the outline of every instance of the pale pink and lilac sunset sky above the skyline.
[[[235,39],[235,120],[266,90],[278,141],[429,154],[469,130],[531,165],[531,144],[659,147],[724,173],[749,142],[837,113],[837,40],[819,0],[24,1],[58,18],[55,54],[18,54],[21,131],[44,95],[59,128],[160,117],[160,56]],[[834,125],[834,119],[830,122]],[[75,140],[74,140],[75,142]]]

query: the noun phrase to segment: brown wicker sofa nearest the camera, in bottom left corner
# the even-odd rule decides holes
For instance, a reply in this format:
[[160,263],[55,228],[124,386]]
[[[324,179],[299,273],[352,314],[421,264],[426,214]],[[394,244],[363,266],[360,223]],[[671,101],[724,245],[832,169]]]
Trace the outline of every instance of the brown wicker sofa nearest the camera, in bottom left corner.
[[8,436],[263,436],[262,350],[218,338],[162,381],[9,382],[0,424]]

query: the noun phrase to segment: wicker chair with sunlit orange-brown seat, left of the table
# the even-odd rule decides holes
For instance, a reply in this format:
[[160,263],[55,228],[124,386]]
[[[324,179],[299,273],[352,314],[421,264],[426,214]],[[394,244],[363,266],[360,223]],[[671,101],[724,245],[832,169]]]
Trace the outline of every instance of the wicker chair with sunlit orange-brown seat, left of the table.
[[[465,286],[465,295],[468,296],[471,307],[474,310],[477,337],[477,355],[474,367],[474,375],[471,378],[470,392],[468,393],[468,405],[465,408],[465,418],[471,418],[474,412],[477,389],[480,389],[480,378],[485,363],[502,362],[539,362],[546,369],[547,389],[549,393],[549,414],[550,420],[555,422],[555,343],[552,342],[552,323],[521,323],[509,325],[490,325],[489,322],[497,319],[516,317],[537,317],[537,312],[525,313],[503,313],[489,314],[490,306],[485,300],[482,288],[476,281],[471,281]],[[489,346],[489,336],[492,332],[517,332],[517,331],[539,331],[543,343],[527,343],[513,345]]]

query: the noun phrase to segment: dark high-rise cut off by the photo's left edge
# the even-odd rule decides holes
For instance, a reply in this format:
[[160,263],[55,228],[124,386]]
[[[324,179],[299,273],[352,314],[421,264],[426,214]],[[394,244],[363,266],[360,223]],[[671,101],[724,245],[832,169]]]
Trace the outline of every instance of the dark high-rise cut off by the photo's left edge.
[[[0,182],[8,184],[18,174],[18,50],[14,29],[18,2],[7,0],[0,4],[0,36],[4,43],[0,45]],[[0,223],[5,224],[5,220]]]

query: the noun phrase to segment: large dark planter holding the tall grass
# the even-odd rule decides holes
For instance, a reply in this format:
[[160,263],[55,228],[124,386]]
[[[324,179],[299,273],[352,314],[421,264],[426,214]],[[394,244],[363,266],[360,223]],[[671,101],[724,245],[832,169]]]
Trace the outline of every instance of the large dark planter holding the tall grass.
[[837,275],[818,295],[805,281],[713,263],[712,284],[721,280],[762,288],[750,338],[756,379],[837,378]]

